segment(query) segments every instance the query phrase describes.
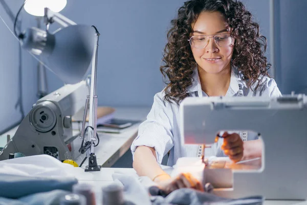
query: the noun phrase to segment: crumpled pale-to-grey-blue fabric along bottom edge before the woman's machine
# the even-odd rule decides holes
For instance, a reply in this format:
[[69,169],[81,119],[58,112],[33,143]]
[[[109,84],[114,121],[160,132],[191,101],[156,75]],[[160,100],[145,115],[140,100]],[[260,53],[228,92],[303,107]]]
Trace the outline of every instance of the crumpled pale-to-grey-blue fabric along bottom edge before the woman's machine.
[[115,173],[112,175],[113,179],[117,182],[120,181],[124,187],[124,198],[126,200],[125,204],[135,204],[135,205],[162,205],[162,204],[180,204],[180,205],[205,205],[205,204],[221,204],[224,205],[236,205],[236,204],[249,204],[249,205],[260,205],[264,201],[262,196],[252,196],[248,198],[241,199],[228,199],[223,197],[218,197],[213,194],[206,192],[200,192],[192,189],[179,189],[170,193],[167,197],[163,198],[161,196],[149,196],[148,185],[152,183],[147,183],[148,180],[144,180],[144,177],[141,177],[143,182],[147,184],[144,185],[139,181],[137,177],[118,174]]

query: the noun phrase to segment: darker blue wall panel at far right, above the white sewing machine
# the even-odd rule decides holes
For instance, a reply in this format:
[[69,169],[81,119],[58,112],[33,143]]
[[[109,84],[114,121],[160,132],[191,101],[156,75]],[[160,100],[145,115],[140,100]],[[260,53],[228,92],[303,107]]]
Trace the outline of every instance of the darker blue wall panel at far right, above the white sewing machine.
[[[280,0],[277,32],[279,68],[277,80],[282,93],[307,94],[307,1]],[[278,16],[276,16],[278,17]]]

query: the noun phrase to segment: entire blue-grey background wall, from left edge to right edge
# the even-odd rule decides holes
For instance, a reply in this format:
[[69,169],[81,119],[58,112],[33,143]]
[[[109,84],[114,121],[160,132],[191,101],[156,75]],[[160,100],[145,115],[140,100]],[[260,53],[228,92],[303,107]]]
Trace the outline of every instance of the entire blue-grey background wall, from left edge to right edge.
[[[14,13],[23,0],[6,0]],[[159,66],[170,20],[184,0],[172,1],[76,1],[68,0],[61,12],[78,24],[96,25],[101,33],[97,92],[99,105],[150,106],[153,95],[164,87]],[[268,0],[243,0],[260,24],[260,32],[270,43]],[[307,30],[305,0],[275,0],[274,38],[276,81],[282,93],[300,92],[307,87],[304,68]],[[0,6],[0,13],[12,23]],[[33,16],[22,12],[23,28],[35,25]],[[0,132],[21,115],[15,103],[18,91],[18,42],[0,22]],[[270,50],[267,50],[270,59]],[[23,51],[23,106],[25,114],[36,101],[36,61]],[[62,86],[48,72],[49,92]]]

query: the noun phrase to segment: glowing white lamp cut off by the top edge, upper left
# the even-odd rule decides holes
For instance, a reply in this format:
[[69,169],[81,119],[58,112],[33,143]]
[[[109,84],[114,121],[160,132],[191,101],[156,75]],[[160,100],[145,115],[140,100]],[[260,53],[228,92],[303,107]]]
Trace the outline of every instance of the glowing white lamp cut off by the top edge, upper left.
[[48,7],[53,12],[60,12],[67,4],[67,0],[28,0],[25,10],[34,16],[43,16]]

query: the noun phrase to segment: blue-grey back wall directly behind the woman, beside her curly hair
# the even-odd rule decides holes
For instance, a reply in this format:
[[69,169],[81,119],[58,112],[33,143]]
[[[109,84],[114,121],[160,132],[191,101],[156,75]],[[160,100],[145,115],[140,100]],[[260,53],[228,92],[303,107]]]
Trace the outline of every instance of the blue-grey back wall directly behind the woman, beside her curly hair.
[[[151,106],[164,87],[159,66],[170,20],[184,0],[178,1],[72,1],[61,13],[78,24],[99,29],[98,104]],[[270,33],[269,1],[245,0],[255,14],[261,33]],[[267,56],[270,58],[269,50]],[[50,91],[62,86],[48,72]]]

